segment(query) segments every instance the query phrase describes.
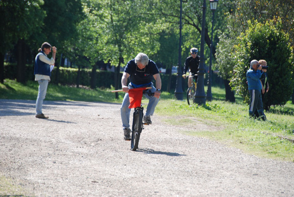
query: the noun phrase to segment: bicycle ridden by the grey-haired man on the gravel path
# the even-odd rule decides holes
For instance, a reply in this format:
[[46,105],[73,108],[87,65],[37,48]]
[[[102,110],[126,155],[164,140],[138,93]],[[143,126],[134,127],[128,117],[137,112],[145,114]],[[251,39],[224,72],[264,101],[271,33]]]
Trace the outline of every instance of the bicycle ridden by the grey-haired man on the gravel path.
[[[131,90],[142,90],[142,95],[146,89],[151,89],[151,87],[143,87],[143,88],[133,88]],[[112,92],[123,91],[123,90],[113,90]],[[145,92],[148,96],[154,96],[152,92]],[[144,97],[144,95],[143,95]],[[141,98],[142,101],[142,98]],[[148,125],[147,123],[143,123],[144,116],[144,108],[142,107],[142,103],[134,108],[133,113],[133,124],[132,124],[132,134],[131,134],[131,150],[135,151],[138,148],[139,140],[141,136],[141,132],[144,129],[144,125]]]

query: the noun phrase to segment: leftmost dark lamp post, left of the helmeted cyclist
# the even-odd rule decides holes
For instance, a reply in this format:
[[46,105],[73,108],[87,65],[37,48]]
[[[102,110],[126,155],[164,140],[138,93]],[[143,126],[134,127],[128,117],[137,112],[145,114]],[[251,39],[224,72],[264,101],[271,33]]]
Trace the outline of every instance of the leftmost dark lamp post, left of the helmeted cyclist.
[[178,69],[176,75],[176,84],[174,96],[177,100],[183,100],[182,89],[182,67],[181,67],[181,54],[182,54],[182,0],[180,0],[180,38],[179,38],[179,56],[178,56]]

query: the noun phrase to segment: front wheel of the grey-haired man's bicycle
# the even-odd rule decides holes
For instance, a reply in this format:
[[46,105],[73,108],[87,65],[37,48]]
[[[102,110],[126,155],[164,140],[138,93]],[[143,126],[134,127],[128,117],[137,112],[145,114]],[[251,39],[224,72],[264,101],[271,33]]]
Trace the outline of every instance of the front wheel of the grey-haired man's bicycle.
[[141,110],[135,111],[133,116],[131,150],[135,151],[138,148],[140,135],[143,129],[143,112]]

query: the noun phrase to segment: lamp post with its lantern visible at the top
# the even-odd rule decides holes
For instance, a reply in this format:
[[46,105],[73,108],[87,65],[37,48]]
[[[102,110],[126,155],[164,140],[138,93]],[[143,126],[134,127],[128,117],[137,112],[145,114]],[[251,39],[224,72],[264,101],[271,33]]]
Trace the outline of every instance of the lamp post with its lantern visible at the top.
[[209,73],[208,73],[208,83],[207,83],[207,94],[206,99],[208,101],[212,100],[212,94],[211,94],[211,84],[212,84],[212,40],[213,40],[213,22],[214,22],[214,13],[217,9],[219,0],[209,0],[210,3],[210,9],[212,10],[212,27],[211,27],[211,42],[210,42],[210,57],[209,57]]

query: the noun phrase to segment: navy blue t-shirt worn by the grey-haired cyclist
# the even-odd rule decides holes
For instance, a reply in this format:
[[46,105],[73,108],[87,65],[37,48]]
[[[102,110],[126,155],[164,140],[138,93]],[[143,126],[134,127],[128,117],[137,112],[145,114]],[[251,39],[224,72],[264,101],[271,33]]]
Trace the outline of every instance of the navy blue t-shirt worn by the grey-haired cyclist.
[[128,73],[130,82],[135,87],[148,85],[153,80],[153,75],[159,73],[158,68],[154,61],[149,59],[149,62],[145,68],[139,69],[135,63],[135,59],[127,62],[124,72]]

